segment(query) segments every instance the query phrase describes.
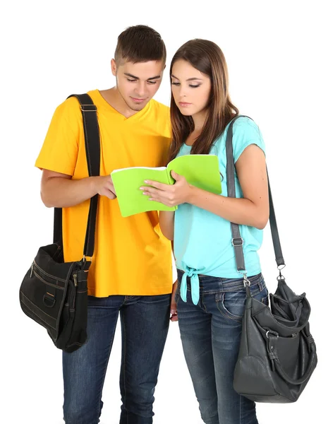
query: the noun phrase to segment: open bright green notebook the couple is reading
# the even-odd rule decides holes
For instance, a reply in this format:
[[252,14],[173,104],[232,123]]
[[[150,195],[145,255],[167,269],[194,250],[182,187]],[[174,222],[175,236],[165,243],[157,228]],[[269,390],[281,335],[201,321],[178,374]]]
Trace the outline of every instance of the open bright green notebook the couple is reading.
[[111,178],[116,191],[122,216],[147,211],[176,211],[177,206],[165,206],[150,201],[140,187],[146,187],[145,179],[174,184],[171,170],[183,175],[189,184],[212,192],[221,193],[221,176],[217,155],[183,155],[171,160],[166,167],[128,167],[114,170]]

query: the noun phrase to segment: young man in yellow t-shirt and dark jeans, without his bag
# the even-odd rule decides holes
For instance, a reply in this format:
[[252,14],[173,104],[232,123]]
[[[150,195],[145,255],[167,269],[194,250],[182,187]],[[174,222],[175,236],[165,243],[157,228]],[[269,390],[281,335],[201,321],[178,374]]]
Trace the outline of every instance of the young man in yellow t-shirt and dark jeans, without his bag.
[[63,353],[66,424],[96,424],[102,387],[121,317],[120,424],[152,423],[154,388],[169,329],[171,245],[158,213],[122,218],[111,172],[164,165],[170,143],[169,108],[152,100],[162,81],[166,48],[144,25],[119,35],[111,70],[116,86],[88,94],[97,106],[100,177],[88,177],[83,121],[75,98],[57,107],[36,166],[48,207],[63,208],[66,261],[83,254],[89,199],[99,194],[95,254],[88,277],[87,342]]

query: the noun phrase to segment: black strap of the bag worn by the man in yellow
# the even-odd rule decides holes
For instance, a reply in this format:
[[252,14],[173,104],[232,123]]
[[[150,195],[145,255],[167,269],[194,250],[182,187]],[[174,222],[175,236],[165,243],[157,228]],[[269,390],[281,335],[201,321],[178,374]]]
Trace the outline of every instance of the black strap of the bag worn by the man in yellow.
[[[97,119],[97,107],[94,105],[90,95],[88,94],[72,94],[68,96],[68,98],[71,97],[77,98],[80,102],[80,110],[83,117],[83,129],[85,136],[87,170],[90,177],[96,177],[99,175],[100,170],[100,136]],[[90,199],[83,257],[92,257],[95,250],[97,206],[98,194]],[[61,246],[63,245],[62,216],[62,209],[54,208],[54,243],[59,242]]]

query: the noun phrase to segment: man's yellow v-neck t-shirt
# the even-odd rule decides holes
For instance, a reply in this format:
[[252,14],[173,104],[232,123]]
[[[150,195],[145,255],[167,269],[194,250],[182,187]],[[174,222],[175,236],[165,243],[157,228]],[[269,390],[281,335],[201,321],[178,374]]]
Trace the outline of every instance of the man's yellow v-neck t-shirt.
[[[144,109],[126,118],[99,90],[88,94],[97,106],[100,175],[122,167],[165,165],[170,143],[169,107],[150,100]],[[88,177],[83,119],[76,98],[57,107],[35,166],[72,175],[72,179]],[[89,205],[87,200],[63,208],[65,261],[83,257]],[[99,196],[88,294],[102,298],[171,291],[171,242],[162,235],[157,211],[122,218],[117,199]]]

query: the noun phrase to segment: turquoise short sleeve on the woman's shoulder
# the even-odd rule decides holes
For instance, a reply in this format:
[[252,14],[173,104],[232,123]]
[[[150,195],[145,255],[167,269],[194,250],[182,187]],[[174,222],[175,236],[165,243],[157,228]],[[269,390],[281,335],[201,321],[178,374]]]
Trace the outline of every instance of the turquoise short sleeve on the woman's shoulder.
[[250,144],[256,144],[265,153],[265,142],[261,131],[255,122],[248,117],[241,117],[233,123],[233,160],[237,162],[241,153]]

